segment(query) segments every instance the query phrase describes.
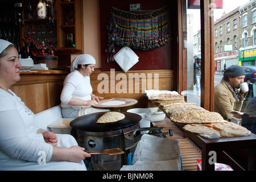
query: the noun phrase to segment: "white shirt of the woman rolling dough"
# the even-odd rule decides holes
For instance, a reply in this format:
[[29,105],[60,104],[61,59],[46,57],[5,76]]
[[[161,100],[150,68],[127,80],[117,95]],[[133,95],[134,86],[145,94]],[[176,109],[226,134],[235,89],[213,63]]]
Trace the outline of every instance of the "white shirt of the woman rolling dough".
[[90,77],[82,76],[77,70],[68,74],[65,78],[63,90],[61,92],[60,100],[61,107],[73,107],[74,109],[81,109],[83,106],[71,106],[68,102],[72,97],[79,98],[81,100],[92,100],[90,94],[92,94],[92,85],[90,85]]

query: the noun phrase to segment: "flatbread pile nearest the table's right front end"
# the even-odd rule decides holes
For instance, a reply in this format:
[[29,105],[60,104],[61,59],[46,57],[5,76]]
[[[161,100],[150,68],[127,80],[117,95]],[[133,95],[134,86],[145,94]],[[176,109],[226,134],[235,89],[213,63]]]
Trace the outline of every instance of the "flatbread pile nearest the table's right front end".
[[184,130],[192,133],[212,135],[216,133],[220,138],[242,137],[249,133],[245,127],[239,126],[233,122],[207,123],[207,124],[189,124],[183,127]]

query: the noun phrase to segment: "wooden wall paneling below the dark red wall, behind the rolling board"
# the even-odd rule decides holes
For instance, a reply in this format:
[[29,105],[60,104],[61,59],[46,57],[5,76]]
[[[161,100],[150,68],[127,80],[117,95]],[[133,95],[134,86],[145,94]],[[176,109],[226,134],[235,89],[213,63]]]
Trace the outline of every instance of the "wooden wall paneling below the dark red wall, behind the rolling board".
[[[154,74],[158,74],[158,78]],[[94,71],[90,75],[90,83],[93,88],[93,94],[96,96],[104,98],[133,98],[138,101],[138,104],[133,107],[148,107],[148,99],[143,93],[144,89],[173,90],[173,71],[147,70],[128,71],[126,73],[121,71]],[[155,84],[157,88],[154,86]],[[106,90],[102,93],[101,89],[104,89],[104,86],[106,86]],[[118,90],[118,88],[121,90]],[[125,111],[129,108],[123,109]]]

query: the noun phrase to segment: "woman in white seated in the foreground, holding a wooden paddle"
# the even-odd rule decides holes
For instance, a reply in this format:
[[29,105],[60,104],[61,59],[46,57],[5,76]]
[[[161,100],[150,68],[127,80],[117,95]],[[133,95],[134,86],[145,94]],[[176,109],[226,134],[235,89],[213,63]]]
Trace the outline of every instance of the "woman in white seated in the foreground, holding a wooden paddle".
[[10,90],[20,67],[16,48],[0,39],[0,171],[86,170],[90,155],[75,138],[35,126],[34,113]]

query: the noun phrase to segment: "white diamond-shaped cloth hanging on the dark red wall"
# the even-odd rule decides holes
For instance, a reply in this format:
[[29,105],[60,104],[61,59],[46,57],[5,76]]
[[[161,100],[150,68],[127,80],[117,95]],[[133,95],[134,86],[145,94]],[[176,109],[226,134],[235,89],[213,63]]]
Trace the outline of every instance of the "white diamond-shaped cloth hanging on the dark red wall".
[[127,72],[131,67],[138,63],[139,57],[130,47],[125,46],[114,55],[114,60],[119,67],[122,68],[123,72]]

